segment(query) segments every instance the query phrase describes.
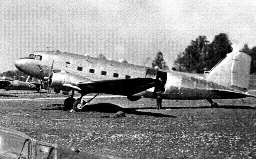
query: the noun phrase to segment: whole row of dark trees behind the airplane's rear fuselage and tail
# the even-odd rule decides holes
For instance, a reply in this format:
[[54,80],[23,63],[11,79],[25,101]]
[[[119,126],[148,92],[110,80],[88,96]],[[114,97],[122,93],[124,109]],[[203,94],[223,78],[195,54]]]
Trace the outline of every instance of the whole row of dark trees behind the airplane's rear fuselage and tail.
[[[195,40],[191,40],[184,52],[178,54],[174,62],[175,67],[172,70],[188,73],[204,73],[211,70],[226,54],[233,51],[232,43],[228,39],[228,35],[221,33],[214,37],[210,43],[206,36],[198,36]],[[240,50],[252,57],[250,73],[256,72],[256,46],[248,48],[248,44]],[[166,62],[164,62],[162,52],[156,54],[152,61],[152,67],[169,70]]]

